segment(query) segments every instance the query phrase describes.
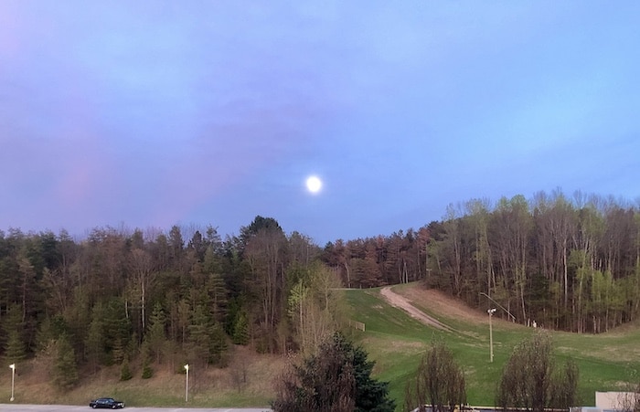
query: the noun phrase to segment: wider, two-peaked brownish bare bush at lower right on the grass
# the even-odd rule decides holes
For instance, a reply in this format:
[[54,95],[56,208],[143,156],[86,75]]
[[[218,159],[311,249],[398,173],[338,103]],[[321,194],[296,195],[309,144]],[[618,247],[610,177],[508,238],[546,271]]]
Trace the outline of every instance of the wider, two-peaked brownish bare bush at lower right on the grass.
[[578,367],[571,361],[556,370],[549,333],[539,331],[518,343],[507,361],[496,406],[542,412],[545,407],[577,405]]

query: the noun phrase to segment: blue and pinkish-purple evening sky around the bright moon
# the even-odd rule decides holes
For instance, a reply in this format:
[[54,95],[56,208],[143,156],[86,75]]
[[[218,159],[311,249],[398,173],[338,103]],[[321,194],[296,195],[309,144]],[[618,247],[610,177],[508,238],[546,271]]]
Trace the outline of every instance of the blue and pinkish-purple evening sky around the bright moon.
[[474,198],[638,205],[639,75],[637,1],[3,0],[0,229],[323,246]]

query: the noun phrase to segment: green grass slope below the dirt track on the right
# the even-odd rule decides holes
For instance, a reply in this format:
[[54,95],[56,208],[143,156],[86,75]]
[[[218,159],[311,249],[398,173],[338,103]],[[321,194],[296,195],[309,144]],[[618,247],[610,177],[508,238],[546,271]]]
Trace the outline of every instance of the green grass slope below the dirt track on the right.
[[[420,288],[419,285],[401,285]],[[389,381],[390,395],[403,405],[407,382],[415,374],[421,355],[432,342],[440,338],[464,367],[467,399],[471,405],[494,405],[496,386],[502,368],[514,346],[533,333],[532,328],[511,322],[493,322],[494,362],[489,361],[488,322],[474,324],[446,316],[446,308],[430,313],[452,327],[454,333],[425,326],[405,312],[389,306],[379,289],[347,291],[347,301],[354,309],[353,319],[366,324],[366,331],[357,331],[357,343],[376,361],[374,374]],[[420,305],[415,305],[420,307]],[[421,308],[424,312],[428,312]],[[640,328],[627,326],[600,335],[552,333],[556,362],[573,359],[580,368],[579,394],[583,406],[593,406],[596,391],[626,390],[629,382],[640,379]]]

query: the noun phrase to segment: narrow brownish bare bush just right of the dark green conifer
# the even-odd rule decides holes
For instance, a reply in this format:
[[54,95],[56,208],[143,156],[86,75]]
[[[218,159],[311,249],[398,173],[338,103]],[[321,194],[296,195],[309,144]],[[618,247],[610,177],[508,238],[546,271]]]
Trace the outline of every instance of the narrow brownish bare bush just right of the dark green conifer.
[[433,411],[444,412],[466,403],[464,371],[442,341],[432,341],[406,393],[408,410],[418,406],[423,412],[428,404]]

